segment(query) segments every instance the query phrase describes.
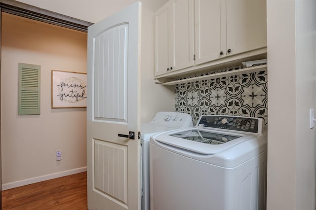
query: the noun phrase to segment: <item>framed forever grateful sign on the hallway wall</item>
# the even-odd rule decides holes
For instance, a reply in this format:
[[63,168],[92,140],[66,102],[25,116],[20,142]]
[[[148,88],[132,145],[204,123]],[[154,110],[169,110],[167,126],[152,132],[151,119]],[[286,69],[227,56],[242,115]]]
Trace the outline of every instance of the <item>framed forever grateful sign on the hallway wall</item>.
[[87,74],[61,70],[51,71],[51,107],[87,106]]

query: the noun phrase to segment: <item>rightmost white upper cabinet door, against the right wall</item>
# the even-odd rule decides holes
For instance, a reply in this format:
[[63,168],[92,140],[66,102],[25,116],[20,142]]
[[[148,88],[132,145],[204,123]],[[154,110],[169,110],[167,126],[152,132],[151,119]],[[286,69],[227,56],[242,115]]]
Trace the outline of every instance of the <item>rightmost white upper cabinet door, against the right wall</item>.
[[230,55],[267,46],[266,0],[226,0]]

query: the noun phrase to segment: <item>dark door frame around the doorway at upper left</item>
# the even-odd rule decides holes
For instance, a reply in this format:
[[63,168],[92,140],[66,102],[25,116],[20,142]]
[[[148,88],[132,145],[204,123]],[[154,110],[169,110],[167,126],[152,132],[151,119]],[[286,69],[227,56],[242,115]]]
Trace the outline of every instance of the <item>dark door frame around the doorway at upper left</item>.
[[[74,29],[77,31],[87,33],[88,27],[93,23],[79,20],[67,15],[52,12],[40,7],[32,6],[30,4],[22,3],[15,0],[0,0],[0,78],[1,78],[1,23],[2,23],[2,12],[18,15],[21,17],[30,18],[44,23],[50,23],[53,25],[66,27],[69,29]],[[0,91],[1,91],[1,81],[0,81]],[[1,96],[1,94],[0,94]],[[1,98],[0,98],[0,192],[1,188]],[[0,198],[0,209],[2,206],[2,199]]]

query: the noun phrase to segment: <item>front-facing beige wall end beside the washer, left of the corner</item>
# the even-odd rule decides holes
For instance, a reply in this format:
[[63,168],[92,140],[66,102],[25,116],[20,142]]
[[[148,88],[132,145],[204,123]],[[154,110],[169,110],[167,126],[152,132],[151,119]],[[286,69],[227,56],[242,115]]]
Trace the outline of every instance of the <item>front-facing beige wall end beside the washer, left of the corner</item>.
[[293,210],[296,205],[295,14],[294,0],[287,2],[267,1],[267,210]]

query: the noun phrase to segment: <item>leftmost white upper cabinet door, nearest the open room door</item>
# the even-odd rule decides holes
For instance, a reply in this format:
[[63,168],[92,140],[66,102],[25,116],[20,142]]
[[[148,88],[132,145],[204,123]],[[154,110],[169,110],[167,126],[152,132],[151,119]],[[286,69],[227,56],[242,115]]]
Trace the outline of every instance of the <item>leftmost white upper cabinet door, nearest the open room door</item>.
[[155,76],[171,67],[171,7],[168,1],[155,12]]

